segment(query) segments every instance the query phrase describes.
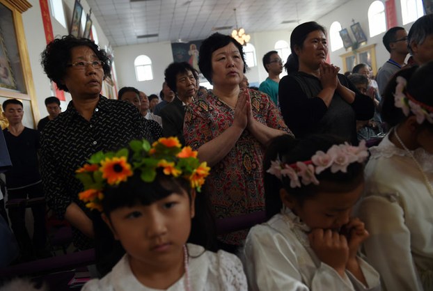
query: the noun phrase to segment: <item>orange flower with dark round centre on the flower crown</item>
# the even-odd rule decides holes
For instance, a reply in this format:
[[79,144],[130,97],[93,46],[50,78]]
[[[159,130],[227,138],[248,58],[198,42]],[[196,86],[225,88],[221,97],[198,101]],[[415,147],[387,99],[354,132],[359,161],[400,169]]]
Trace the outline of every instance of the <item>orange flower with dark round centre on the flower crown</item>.
[[107,179],[109,184],[119,184],[125,182],[129,176],[132,176],[131,165],[127,163],[126,157],[108,157],[101,162],[100,171],[102,178]]

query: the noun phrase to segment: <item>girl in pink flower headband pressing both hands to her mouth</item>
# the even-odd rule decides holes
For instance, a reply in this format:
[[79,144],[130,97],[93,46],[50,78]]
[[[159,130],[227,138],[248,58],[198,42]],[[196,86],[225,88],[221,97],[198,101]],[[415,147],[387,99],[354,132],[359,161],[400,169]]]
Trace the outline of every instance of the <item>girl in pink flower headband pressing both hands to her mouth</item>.
[[329,135],[279,136],[265,153],[269,221],[244,246],[249,290],[380,290],[356,253],[368,232],[352,207],[363,192],[365,143]]

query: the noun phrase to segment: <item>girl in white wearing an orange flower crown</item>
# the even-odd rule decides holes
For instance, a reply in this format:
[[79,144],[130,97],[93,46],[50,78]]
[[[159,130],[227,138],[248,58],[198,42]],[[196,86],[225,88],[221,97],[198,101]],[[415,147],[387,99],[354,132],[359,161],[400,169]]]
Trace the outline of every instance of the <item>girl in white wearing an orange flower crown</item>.
[[200,212],[196,194],[200,196],[210,171],[196,151],[181,148],[173,137],[152,146],[131,141],[129,148],[97,152],[88,162],[77,170],[85,189],[79,198],[102,212],[111,241],[119,241],[124,254],[111,271],[102,271],[109,271],[103,278],[86,283],[84,291],[246,290],[235,255],[187,244],[191,219]]

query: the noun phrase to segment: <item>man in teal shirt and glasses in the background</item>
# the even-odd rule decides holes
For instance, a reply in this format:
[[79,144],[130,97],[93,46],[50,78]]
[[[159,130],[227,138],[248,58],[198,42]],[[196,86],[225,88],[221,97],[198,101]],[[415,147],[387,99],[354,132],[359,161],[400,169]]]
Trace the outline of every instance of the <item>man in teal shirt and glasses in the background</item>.
[[262,81],[258,89],[269,95],[272,102],[277,105],[278,84],[280,83],[280,74],[283,72],[283,61],[276,51],[267,52],[262,61],[268,77]]

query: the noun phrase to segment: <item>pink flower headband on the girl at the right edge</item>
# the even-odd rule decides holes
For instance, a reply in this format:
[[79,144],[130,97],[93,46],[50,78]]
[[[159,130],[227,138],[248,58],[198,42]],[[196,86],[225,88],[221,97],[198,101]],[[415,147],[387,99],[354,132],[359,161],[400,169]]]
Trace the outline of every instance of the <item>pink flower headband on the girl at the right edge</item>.
[[409,113],[412,111],[416,116],[416,122],[419,124],[423,123],[425,119],[427,119],[429,123],[433,123],[433,108],[415,100],[414,97],[408,93],[403,93],[404,87],[406,87],[407,84],[406,79],[398,76],[395,81],[397,81],[394,93],[395,107],[401,108],[405,116],[409,116]]

